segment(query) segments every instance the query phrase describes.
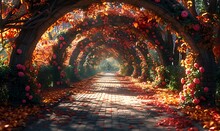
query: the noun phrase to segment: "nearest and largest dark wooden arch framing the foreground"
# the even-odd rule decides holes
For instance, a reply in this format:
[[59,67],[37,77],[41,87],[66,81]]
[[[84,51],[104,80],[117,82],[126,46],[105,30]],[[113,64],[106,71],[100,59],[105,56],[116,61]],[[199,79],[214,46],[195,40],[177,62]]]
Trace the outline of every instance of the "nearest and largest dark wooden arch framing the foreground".
[[[75,7],[82,7],[82,8],[88,8],[94,1],[89,1],[89,2],[84,2],[84,1],[79,1],[78,3],[69,3],[62,1],[63,3],[55,3],[54,6],[60,7],[58,10],[53,10],[51,9],[51,14],[54,14],[55,18],[49,17],[49,19],[44,20],[45,17],[48,17],[48,15],[43,15],[41,14],[41,20],[38,24],[36,24],[36,21],[34,19],[30,19],[31,21],[28,21],[25,24],[25,27],[28,27],[32,24],[36,25],[33,29],[24,29],[20,32],[19,37],[16,39],[16,48],[13,50],[12,56],[11,56],[11,61],[10,65],[11,68],[15,68],[17,64],[24,64],[26,60],[28,60],[28,57],[31,56],[33,49],[42,35],[43,32],[46,31],[46,29],[54,23],[54,21],[72,10]],[[100,1],[101,2],[101,1]],[[215,91],[215,85],[213,82],[213,72],[215,71],[215,64],[214,63],[214,57],[212,52],[206,51],[204,48],[197,48],[197,45],[193,43],[201,43],[200,37],[201,35],[198,30],[193,29],[194,25],[198,26],[198,22],[191,17],[191,15],[188,15],[185,18],[181,17],[181,13],[184,13],[183,11],[186,12],[186,9],[184,9],[178,2],[176,1],[169,1],[169,0],[163,0],[161,2],[155,3],[154,1],[139,1],[138,3],[135,3],[134,1],[126,0],[126,1],[120,1],[120,2],[125,2],[129,3],[133,6],[136,7],[141,7],[143,6],[145,9],[153,11],[155,14],[160,16],[162,19],[164,19],[167,23],[171,23],[173,28],[185,38],[185,40],[191,45],[192,49],[195,52],[199,51],[199,62],[201,65],[205,66],[206,72],[204,74],[204,80],[203,83],[205,85],[208,85],[210,89],[210,94],[214,94],[213,91]],[[65,4],[69,4],[68,6],[65,6]],[[69,8],[66,8],[69,7]],[[59,12],[59,13],[58,13]],[[46,13],[46,12],[45,12]],[[44,24],[45,21],[47,21],[47,24]],[[42,22],[42,23],[41,23]],[[44,24],[44,26],[42,26]],[[36,36],[33,36],[33,34],[37,34]],[[26,39],[24,39],[26,38]],[[27,40],[28,39],[28,40]],[[201,43],[205,44],[205,43]],[[21,49],[23,51],[22,54],[17,55],[16,51],[18,49]],[[15,68],[16,69],[16,68]],[[212,80],[211,80],[212,79]],[[25,84],[21,84],[21,88],[25,86]]]

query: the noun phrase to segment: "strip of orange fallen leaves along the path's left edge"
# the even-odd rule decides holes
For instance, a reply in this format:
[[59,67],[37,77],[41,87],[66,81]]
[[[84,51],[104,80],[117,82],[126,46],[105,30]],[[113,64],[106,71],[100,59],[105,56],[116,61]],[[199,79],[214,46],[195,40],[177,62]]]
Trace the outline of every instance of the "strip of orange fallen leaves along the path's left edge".
[[42,91],[40,105],[0,106],[0,131],[23,130],[33,120],[44,117],[45,112],[59,105],[64,99],[71,99],[71,94],[87,93],[87,86],[92,78],[73,83],[68,88],[48,88]]

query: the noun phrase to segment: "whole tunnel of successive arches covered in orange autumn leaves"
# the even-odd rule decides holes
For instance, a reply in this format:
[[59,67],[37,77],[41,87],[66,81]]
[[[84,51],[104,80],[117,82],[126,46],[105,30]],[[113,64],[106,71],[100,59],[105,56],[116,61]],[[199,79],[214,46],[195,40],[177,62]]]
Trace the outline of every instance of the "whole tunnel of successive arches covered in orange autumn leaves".
[[[15,48],[10,57],[10,68],[15,71],[10,77],[13,77],[14,81],[8,85],[11,101],[21,102],[21,99],[25,98],[24,87],[31,83],[30,65],[37,43],[45,32],[63,24],[60,22],[63,20],[69,25],[61,34],[55,35],[57,39],[50,61],[58,74],[62,72],[63,63],[67,59],[66,50],[70,46],[75,48],[70,55],[69,65],[75,73],[79,68],[84,76],[87,74],[85,70],[90,67],[84,68],[83,64],[100,62],[108,55],[100,58],[90,56],[98,56],[97,52],[101,51],[107,52],[107,48],[118,53],[118,56],[112,56],[121,61],[121,64],[127,63],[126,75],[141,77],[141,81],[146,81],[149,77],[147,71],[156,66],[152,62],[154,58],[150,55],[152,50],[157,53],[160,64],[168,67],[180,63],[177,49],[181,48],[187,50],[185,54],[191,52],[194,55],[192,63],[197,62],[204,67],[201,86],[210,88],[207,99],[211,100],[214,97],[214,72],[217,67],[213,52],[206,48],[207,44],[201,40],[202,25],[177,1],[60,0],[51,1],[47,6],[48,9],[39,8],[40,13],[33,14],[22,25],[22,30],[15,40]],[[79,35],[85,38],[74,45],[73,41]],[[176,45],[176,40],[182,40],[181,45],[185,43],[189,48]],[[18,65],[25,66],[27,70],[18,69]],[[21,78],[17,75],[19,73],[25,73],[25,77]],[[59,79],[60,77],[57,77],[55,81],[60,81]],[[33,82],[36,83],[36,78],[33,78]],[[18,84],[16,88],[15,83]],[[12,95],[14,92],[18,95]]]

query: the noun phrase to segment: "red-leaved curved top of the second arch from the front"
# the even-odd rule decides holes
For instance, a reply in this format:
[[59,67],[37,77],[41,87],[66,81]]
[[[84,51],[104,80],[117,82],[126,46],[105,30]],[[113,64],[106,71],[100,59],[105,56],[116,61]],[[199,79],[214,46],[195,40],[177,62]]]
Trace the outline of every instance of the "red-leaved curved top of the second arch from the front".
[[[109,19],[109,21],[106,21],[105,23],[103,23],[102,19]],[[115,19],[117,19],[117,24],[115,24]],[[130,40],[130,41],[137,41],[137,40],[144,40],[144,37],[147,37],[146,39],[149,39],[150,41],[152,41],[152,43],[155,43],[155,46],[158,46],[160,43],[160,46],[165,45],[166,43],[163,42],[163,40],[161,40],[161,35],[159,33],[154,33],[156,32],[158,27],[152,28],[152,27],[146,27],[145,30],[149,30],[149,32],[145,33],[144,30],[138,30],[135,27],[133,27],[133,24],[130,25],[131,23],[133,23],[135,20],[133,18],[129,18],[129,17],[123,17],[123,16],[115,16],[115,15],[108,15],[108,16],[104,16],[103,17],[99,17],[94,20],[94,19],[88,19],[87,21],[80,23],[78,26],[75,26],[74,29],[80,29],[80,30],[74,30],[69,29],[65,34],[65,42],[67,43],[65,46],[63,46],[63,48],[61,50],[59,50],[59,54],[62,54],[62,52],[65,51],[65,48],[67,48],[67,46],[71,43],[71,41],[76,38],[78,33],[82,33],[82,34],[86,34],[86,32],[90,32],[90,34],[94,34],[95,32],[92,31],[95,27],[96,32],[99,30],[103,30],[103,32],[105,32],[106,35],[109,35],[111,37],[118,37],[120,35],[127,35],[125,37],[126,40]],[[151,24],[152,21],[150,21],[149,23]],[[86,23],[86,24],[85,24]],[[126,25],[128,24],[129,27],[127,26],[122,26],[122,25]],[[86,26],[85,26],[86,25]],[[117,26],[116,26],[117,25]],[[104,27],[103,27],[104,26]],[[118,27],[119,26],[119,27]],[[112,29],[113,28],[113,29]],[[115,29],[114,29],[115,28]],[[125,32],[123,33],[123,32]],[[155,35],[156,37],[153,37],[153,35]],[[159,36],[158,36],[159,35]],[[156,38],[159,38],[160,42],[158,42],[158,40]],[[162,41],[162,42],[161,42]],[[79,42],[81,43],[81,42]],[[144,43],[144,42],[143,42]],[[159,43],[159,44],[158,44]],[[143,48],[145,48],[145,44],[142,44]],[[79,47],[80,50],[82,50],[83,45],[82,44],[78,44],[75,48],[75,52],[77,54],[77,52],[79,53]],[[165,46],[163,46],[165,48]],[[146,50],[147,48],[145,48]],[[157,50],[159,51],[159,53],[163,52],[161,48],[157,48]],[[165,54],[165,53],[163,53]],[[72,55],[74,57],[77,57],[77,55]],[[162,55],[160,55],[162,56]],[[168,56],[167,54],[165,54],[165,56]],[[75,58],[72,59],[72,61],[75,60]],[[161,58],[161,60],[163,60]]]

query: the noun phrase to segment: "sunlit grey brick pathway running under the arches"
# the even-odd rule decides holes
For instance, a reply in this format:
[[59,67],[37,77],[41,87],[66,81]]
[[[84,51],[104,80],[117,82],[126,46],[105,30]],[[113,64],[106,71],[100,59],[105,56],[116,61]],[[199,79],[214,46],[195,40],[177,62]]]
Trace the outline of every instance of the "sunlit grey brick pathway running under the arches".
[[[26,131],[156,131],[175,128],[156,127],[165,115],[148,110],[149,106],[137,99],[137,93],[126,86],[129,81],[106,73],[95,77],[88,93],[72,96],[48,110]],[[154,107],[152,107],[154,108]],[[155,107],[156,108],[156,107]]]

